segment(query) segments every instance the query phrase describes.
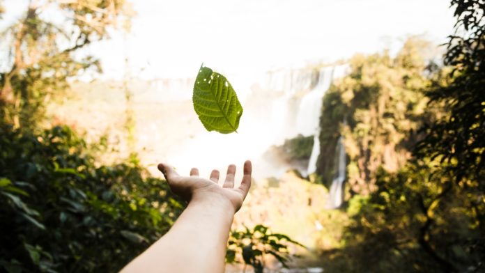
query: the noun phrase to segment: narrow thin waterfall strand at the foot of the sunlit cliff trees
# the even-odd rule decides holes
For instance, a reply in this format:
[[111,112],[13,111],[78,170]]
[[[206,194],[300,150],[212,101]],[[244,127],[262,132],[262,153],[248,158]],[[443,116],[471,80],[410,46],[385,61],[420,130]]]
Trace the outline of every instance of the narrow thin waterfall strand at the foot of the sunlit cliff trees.
[[328,199],[330,208],[339,208],[344,199],[344,181],[347,166],[344,137],[339,137],[335,155],[337,156],[337,173],[332,180],[332,185],[330,185],[330,198]]

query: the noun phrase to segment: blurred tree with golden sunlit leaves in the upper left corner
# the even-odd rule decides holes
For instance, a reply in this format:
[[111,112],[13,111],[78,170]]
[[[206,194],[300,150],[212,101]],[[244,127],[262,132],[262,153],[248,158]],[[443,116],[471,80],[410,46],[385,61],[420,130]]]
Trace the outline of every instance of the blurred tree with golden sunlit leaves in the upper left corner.
[[[46,12],[60,20],[52,20]],[[1,114],[16,127],[31,127],[45,100],[68,88],[68,79],[86,70],[100,71],[98,60],[83,49],[109,37],[109,29],[129,28],[132,9],[125,0],[32,0],[20,22],[3,32],[8,64],[0,72]]]

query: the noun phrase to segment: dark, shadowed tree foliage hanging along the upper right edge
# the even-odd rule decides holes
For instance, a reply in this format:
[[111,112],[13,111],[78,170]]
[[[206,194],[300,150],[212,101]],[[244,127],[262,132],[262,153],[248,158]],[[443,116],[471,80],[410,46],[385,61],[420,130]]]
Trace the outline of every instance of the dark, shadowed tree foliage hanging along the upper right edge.
[[[485,2],[452,0],[456,24],[449,36],[445,65],[452,68],[446,84],[436,81],[426,95],[443,115],[424,127],[426,139],[418,156],[438,157],[455,182],[485,191]],[[483,198],[483,197],[482,197]],[[483,199],[482,199],[483,200]],[[483,203],[483,202],[482,202]]]

